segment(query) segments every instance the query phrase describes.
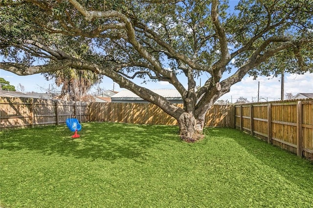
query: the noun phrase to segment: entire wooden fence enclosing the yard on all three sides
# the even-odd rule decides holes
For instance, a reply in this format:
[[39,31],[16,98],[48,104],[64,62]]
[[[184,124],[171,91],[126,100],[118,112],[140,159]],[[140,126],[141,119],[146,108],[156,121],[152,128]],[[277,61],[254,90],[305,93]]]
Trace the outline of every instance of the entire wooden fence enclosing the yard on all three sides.
[[[182,107],[182,104],[178,104]],[[154,104],[78,103],[0,97],[0,130],[81,121],[177,125]],[[214,105],[206,126],[235,127],[298,156],[313,158],[313,99],[241,105]]]

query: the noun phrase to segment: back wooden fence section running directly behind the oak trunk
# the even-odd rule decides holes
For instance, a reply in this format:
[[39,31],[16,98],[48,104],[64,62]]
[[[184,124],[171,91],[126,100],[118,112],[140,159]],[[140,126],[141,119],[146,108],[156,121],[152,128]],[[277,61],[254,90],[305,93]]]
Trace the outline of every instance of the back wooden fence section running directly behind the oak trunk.
[[[183,107],[183,104],[177,105]],[[213,105],[205,116],[205,125],[234,128],[234,116],[233,105]],[[142,103],[91,103],[90,121],[178,125],[173,117],[155,104]]]

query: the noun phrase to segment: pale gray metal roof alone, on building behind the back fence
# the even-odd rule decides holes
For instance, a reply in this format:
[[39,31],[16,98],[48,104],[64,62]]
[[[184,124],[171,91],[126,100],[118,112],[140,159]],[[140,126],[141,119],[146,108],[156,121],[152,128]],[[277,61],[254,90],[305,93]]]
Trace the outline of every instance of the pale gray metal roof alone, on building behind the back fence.
[[[181,95],[176,89],[155,89],[151,90],[156,94],[166,98],[167,100],[182,100]],[[125,89],[113,95],[112,100],[143,100],[138,95]]]

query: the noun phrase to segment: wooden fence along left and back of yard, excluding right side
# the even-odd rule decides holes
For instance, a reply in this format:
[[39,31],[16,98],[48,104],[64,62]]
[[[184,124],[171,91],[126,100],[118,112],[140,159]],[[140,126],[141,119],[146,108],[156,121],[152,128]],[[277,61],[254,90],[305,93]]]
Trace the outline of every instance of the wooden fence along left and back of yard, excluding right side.
[[[182,107],[182,104],[178,105]],[[80,114],[82,122],[177,125],[173,117],[154,104],[79,104],[58,100],[0,97],[0,130],[35,125],[59,125],[65,123],[69,115],[79,118]],[[206,114],[205,125],[234,127],[234,118],[234,106],[214,105]]]

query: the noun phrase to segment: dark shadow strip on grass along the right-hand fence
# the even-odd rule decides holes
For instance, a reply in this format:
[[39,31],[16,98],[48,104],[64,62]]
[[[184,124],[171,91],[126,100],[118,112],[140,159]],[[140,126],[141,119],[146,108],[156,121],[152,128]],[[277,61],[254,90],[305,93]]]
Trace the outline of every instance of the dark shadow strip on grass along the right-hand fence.
[[208,130],[208,132],[210,135],[232,139],[243,147],[250,156],[256,158],[260,164],[275,169],[291,184],[313,193],[313,163],[309,160],[297,157],[295,154],[277,146],[269,145],[265,141],[237,129],[214,128]]

